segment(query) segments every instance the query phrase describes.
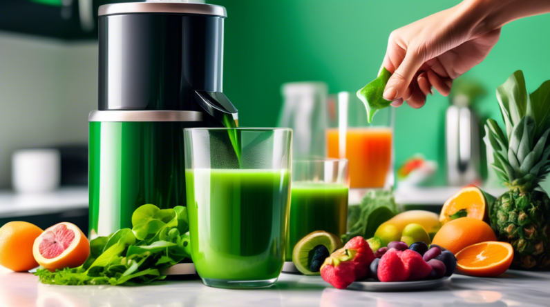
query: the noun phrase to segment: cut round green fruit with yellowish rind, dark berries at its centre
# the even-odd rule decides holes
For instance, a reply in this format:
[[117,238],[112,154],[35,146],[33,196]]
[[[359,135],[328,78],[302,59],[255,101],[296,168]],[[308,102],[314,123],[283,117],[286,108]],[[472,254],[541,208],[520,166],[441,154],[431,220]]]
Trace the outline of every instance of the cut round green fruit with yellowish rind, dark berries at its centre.
[[310,270],[314,248],[319,245],[324,245],[330,253],[343,246],[339,237],[323,230],[314,231],[303,237],[292,251],[292,261],[303,275],[321,275]]

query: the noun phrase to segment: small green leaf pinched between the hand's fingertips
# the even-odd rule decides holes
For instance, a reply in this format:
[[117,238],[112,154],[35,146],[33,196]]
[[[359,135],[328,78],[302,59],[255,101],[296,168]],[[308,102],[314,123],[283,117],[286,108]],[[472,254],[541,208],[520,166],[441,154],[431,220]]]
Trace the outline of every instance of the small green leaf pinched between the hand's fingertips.
[[369,123],[378,110],[388,108],[392,103],[392,101],[388,101],[382,96],[390,77],[392,77],[392,73],[383,67],[377,79],[372,80],[364,88],[357,91],[357,97],[363,101],[367,109]]

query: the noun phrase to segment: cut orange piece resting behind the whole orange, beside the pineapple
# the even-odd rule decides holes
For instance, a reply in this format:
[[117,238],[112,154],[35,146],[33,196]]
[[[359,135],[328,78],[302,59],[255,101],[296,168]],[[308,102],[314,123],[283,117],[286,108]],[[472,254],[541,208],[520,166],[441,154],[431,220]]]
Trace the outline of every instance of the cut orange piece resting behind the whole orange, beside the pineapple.
[[439,222],[445,224],[459,217],[473,217],[488,221],[488,207],[485,195],[480,188],[465,186],[447,199],[439,215]]

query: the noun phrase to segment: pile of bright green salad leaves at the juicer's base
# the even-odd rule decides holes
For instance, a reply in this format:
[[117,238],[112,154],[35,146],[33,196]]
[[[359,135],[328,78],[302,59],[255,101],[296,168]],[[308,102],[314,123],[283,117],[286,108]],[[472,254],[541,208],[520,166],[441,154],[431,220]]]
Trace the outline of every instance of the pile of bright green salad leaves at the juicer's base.
[[56,285],[148,284],[164,279],[164,268],[191,258],[187,208],[143,205],[133,212],[132,226],[90,241],[90,257],[82,266],[55,273],[41,268],[35,275]]

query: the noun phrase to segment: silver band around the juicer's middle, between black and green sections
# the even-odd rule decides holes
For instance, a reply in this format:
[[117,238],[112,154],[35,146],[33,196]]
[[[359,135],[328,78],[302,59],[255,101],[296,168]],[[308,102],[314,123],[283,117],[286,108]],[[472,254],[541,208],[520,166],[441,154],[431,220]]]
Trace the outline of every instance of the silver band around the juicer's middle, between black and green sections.
[[88,121],[202,121],[196,111],[92,111]]

